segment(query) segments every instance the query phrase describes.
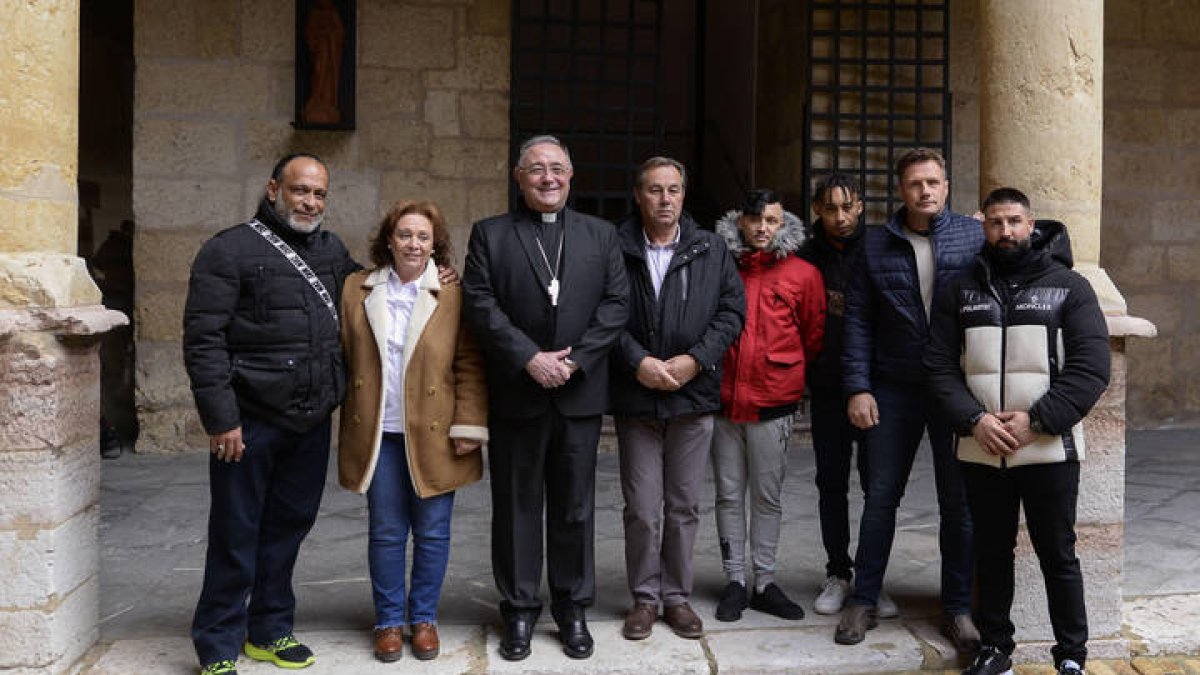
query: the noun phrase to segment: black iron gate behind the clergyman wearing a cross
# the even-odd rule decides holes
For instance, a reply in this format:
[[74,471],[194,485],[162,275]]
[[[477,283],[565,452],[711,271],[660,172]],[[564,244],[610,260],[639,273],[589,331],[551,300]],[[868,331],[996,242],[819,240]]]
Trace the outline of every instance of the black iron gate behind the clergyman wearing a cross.
[[661,0],[512,0],[510,159],[530,136],[560,138],[582,211],[629,213],[632,169],[662,145],[661,20]]

